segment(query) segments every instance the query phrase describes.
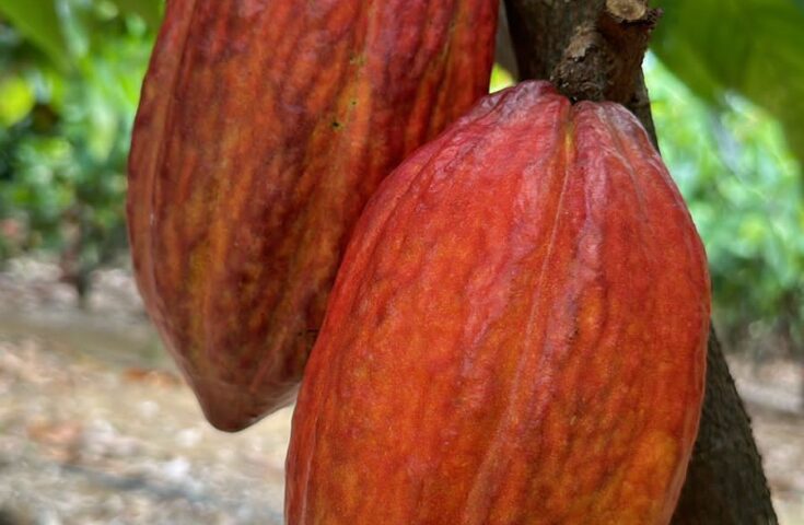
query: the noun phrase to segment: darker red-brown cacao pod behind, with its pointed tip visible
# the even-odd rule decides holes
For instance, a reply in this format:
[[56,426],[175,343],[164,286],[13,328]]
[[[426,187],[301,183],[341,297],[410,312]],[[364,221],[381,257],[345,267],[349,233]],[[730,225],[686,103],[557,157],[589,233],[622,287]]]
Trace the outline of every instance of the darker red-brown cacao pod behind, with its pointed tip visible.
[[488,91],[491,0],[171,0],[128,225],[147,310],[209,421],[292,400],[380,180]]

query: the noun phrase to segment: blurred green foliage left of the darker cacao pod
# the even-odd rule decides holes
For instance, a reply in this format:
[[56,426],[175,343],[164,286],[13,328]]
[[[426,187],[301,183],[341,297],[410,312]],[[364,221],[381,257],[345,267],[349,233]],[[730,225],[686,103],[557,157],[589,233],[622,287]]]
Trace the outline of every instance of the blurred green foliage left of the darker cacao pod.
[[59,253],[82,292],[126,244],[126,158],[153,32],[107,1],[0,0],[0,256]]

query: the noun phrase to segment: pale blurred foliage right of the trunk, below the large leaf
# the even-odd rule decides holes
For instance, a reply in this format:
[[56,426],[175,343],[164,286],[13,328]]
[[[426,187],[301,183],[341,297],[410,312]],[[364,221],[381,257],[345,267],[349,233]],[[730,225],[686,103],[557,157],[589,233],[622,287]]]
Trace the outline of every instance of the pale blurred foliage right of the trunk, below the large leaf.
[[654,57],[645,79],[662,155],[707,246],[732,346],[804,347],[804,174],[780,122],[730,94],[695,96]]

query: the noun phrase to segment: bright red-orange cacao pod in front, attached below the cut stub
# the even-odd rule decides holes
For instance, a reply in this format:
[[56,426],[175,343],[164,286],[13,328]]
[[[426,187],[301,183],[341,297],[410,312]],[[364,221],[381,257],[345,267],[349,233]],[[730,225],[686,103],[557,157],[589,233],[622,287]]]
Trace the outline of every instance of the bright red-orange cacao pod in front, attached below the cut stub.
[[633,116],[544,82],[489,96],[356,226],[293,418],[288,523],[668,523],[709,308]]

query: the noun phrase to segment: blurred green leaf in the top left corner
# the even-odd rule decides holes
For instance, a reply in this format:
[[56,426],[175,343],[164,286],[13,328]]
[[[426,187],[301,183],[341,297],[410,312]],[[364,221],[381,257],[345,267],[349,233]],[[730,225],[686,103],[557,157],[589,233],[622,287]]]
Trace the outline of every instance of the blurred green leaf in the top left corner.
[[0,0],[0,15],[59,67],[70,63],[55,0]]

